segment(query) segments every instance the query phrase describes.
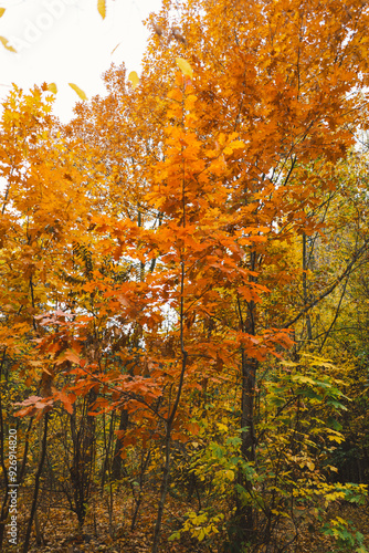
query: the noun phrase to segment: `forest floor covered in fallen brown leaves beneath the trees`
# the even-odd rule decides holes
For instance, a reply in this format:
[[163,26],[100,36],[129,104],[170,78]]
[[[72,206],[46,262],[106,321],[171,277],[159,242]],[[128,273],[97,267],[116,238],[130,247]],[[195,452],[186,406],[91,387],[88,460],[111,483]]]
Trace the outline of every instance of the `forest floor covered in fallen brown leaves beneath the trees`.
[[[19,532],[24,533],[29,517],[29,501],[23,495],[19,504]],[[160,553],[218,553],[219,543],[200,543],[183,535],[180,541],[168,542],[169,535],[180,528],[181,517],[196,505],[169,498],[166,519],[162,526]],[[135,530],[130,530],[133,505],[124,498],[114,498],[114,513],[109,520],[107,498],[96,497],[87,511],[82,532],[77,531],[77,520],[67,504],[61,504],[55,498],[43,493],[40,499],[38,526],[39,544],[32,534],[30,553],[149,553],[152,543],[152,524],[156,515],[155,504],[147,500],[143,503]],[[336,503],[329,511],[329,518],[339,517],[349,521],[348,530],[361,532],[369,551],[369,508]],[[3,550],[8,553],[7,545]],[[9,553],[21,551],[19,546],[9,547]],[[262,553],[262,550],[260,550]],[[303,528],[297,544],[284,550],[285,553],[334,553],[334,541],[321,535],[314,528]],[[356,547],[341,549],[344,553],[354,553]]]

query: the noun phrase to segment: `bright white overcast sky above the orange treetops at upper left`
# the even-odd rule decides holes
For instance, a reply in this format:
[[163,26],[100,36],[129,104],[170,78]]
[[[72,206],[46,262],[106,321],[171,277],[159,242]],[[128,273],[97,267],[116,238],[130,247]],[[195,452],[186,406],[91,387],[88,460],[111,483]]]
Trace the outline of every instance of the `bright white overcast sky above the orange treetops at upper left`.
[[0,0],[6,8],[0,36],[18,51],[9,52],[0,43],[0,100],[11,83],[28,90],[54,82],[59,90],[54,113],[66,122],[80,101],[67,83],[91,97],[104,94],[101,75],[112,62],[124,61],[128,72],[139,73],[148,36],[143,20],[159,11],[161,0],[106,0],[106,4],[103,20],[97,0]]

